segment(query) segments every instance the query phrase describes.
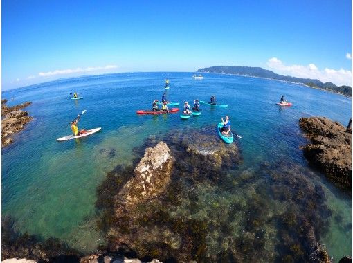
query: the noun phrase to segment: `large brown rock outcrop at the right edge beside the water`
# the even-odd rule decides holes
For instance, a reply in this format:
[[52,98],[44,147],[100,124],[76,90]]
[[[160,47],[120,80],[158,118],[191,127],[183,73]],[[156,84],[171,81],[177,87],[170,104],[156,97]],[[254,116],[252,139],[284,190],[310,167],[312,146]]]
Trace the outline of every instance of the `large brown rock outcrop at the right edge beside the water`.
[[341,187],[352,185],[352,134],[341,123],[324,117],[300,118],[300,128],[311,144],[302,147],[309,163]]

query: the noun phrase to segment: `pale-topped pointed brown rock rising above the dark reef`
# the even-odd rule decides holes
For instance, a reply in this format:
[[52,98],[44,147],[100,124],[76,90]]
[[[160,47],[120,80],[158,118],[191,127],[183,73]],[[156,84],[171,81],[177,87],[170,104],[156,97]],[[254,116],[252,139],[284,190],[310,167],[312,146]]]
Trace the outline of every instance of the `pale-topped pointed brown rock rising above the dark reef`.
[[170,181],[172,163],[170,149],[165,143],[160,142],[154,148],[147,148],[134,170],[134,177],[121,192],[127,206],[144,202],[163,192]]

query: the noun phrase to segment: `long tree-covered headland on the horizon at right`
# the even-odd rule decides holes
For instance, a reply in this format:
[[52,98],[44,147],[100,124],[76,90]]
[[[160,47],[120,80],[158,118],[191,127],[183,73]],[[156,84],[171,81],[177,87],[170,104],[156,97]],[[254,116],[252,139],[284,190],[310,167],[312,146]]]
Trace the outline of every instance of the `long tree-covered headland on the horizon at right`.
[[314,80],[310,78],[296,78],[291,76],[284,76],[262,69],[258,66],[211,66],[209,68],[198,69],[197,72],[202,73],[220,73],[220,74],[232,74],[232,75],[245,75],[257,78],[269,78],[272,80],[282,80],[286,82],[294,82],[305,84],[309,87],[316,89],[325,89],[327,91],[333,91],[345,96],[352,97],[352,87],[350,86],[336,86],[331,82],[320,82],[320,80]]

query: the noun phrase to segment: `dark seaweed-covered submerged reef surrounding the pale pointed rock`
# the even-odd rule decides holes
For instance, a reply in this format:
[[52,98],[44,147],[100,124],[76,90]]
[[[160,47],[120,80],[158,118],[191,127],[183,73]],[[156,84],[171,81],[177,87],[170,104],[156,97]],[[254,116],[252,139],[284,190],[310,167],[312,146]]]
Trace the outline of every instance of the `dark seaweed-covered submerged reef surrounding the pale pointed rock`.
[[[145,147],[161,140],[174,157],[172,181],[159,197],[127,210],[119,191]],[[213,128],[153,136],[134,153],[134,165],[116,167],[97,191],[109,250],[124,244],[139,258],[163,262],[328,258],[318,240],[332,212],[307,168],[289,161],[242,167],[239,147],[221,143]]]

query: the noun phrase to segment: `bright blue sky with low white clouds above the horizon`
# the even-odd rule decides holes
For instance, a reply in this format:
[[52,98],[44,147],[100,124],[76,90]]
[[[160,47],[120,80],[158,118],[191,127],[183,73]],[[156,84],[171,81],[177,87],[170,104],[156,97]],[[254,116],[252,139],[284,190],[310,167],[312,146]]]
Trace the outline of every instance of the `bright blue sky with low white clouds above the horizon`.
[[350,84],[351,10],[347,0],[3,0],[2,87],[217,65]]

